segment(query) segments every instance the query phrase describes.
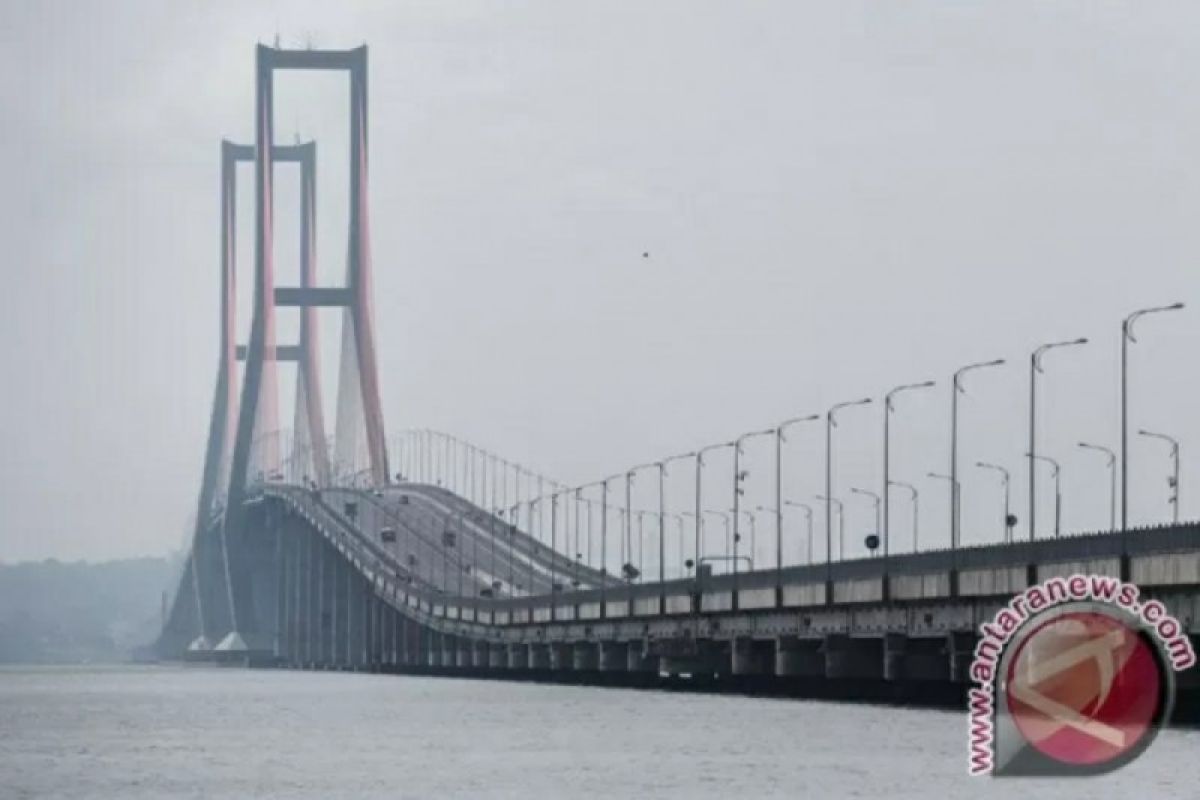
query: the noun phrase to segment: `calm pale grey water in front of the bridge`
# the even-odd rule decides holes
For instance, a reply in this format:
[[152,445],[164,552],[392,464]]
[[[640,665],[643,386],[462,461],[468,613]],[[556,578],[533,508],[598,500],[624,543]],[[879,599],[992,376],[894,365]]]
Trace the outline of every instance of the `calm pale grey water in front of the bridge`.
[[968,780],[965,717],[198,668],[0,670],[0,798],[1187,798],[1200,732],[1080,782]]

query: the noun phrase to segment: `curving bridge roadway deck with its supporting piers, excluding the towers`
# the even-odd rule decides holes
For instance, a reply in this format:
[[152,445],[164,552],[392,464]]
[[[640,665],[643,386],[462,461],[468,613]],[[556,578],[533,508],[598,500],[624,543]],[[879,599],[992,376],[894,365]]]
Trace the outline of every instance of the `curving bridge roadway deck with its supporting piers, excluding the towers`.
[[[876,694],[955,696],[979,625],[1014,593],[1054,576],[1120,577],[1124,560],[1144,595],[1200,639],[1200,525],[1190,523],[642,582],[586,567],[422,483],[262,483],[247,519],[230,543],[241,640],[210,646],[221,638],[211,627],[190,638],[203,614],[185,601],[160,643],[164,655],[607,682],[752,676],[784,688],[827,682],[833,693],[875,684]],[[1182,678],[1187,696],[1195,680]]]

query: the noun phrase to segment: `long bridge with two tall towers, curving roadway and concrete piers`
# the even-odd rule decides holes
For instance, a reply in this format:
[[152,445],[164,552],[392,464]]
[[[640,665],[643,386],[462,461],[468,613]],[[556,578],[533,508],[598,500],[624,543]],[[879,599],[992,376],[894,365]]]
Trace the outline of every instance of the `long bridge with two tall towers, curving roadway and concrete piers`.
[[[275,143],[274,77],[284,70],[349,78],[343,287],[316,283],[316,143]],[[1079,572],[1138,583],[1193,639],[1200,634],[1194,523],[1134,529],[1114,516],[1108,531],[1037,537],[1031,530],[1018,539],[1006,521],[995,543],[965,547],[955,530],[950,547],[919,549],[890,541],[884,509],[877,533],[854,555],[844,534],[834,534],[827,471],[824,541],[814,541],[811,506],[806,528],[788,528],[785,507],[803,504],[785,497],[781,445],[791,426],[821,423],[817,417],[582,486],[445,433],[389,439],[372,306],[367,50],[259,46],[256,76],[254,142],[221,148],[220,355],[196,525],[157,642],[161,657],[954,693],[967,680],[983,621],[1014,593]],[[252,162],[254,175],[245,343],[236,341],[234,294],[240,162]],[[276,164],[301,174],[299,285],[275,281]],[[299,336],[281,343],[276,309],[287,307],[300,311]],[[316,347],[319,308],[343,314],[331,435]],[[296,367],[289,429],[278,420],[280,362]],[[886,419],[890,402],[892,393]],[[827,464],[840,408],[823,419]],[[739,507],[738,457],[752,437],[775,443],[775,500]],[[1036,444],[1031,425],[1031,458]],[[732,509],[712,509],[702,498],[706,455],[721,449],[733,459]],[[688,507],[667,497],[667,475],[679,473],[695,476]],[[631,487],[642,481],[646,497],[648,479],[656,481],[656,503],[635,507]]]

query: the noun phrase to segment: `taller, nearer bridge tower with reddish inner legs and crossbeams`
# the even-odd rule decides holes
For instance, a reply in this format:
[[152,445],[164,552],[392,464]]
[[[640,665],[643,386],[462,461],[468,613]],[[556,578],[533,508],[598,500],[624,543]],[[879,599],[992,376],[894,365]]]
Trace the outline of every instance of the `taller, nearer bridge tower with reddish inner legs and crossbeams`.
[[[383,409],[379,399],[379,379],[374,357],[374,319],[371,302],[371,247],[367,213],[367,49],[350,50],[286,50],[258,46],[256,58],[256,110],[254,110],[254,301],[250,342],[245,349],[245,375],[241,398],[238,403],[236,426],[233,431],[224,517],[221,530],[223,548],[224,584],[229,626],[218,645],[223,650],[254,649],[247,637],[258,636],[253,620],[248,577],[239,576],[229,551],[239,546],[244,535],[247,480],[258,477],[252,470],[265,476],[280,468],[277,445],[272,444],[272,432],[277,428],[277,385],[275,361],[280,353],[275,341],[275,308],[294,306],[302,309],[301,353],[312,354],[300,369],[301,384],[308,386],[300,393],[304,414],[311,414],[307,428],[314,451],[320,451],[324,441],[322,429],[313,425],[320,419],[317,395],[314,348],[306,347],[313,338],[317,307],[342,307],[342,362],[338,372],[337,422],[335,433],[336,463],[332,469],[346,476],[365,474],[372,486],[388,481],[388,453],[384,444]],[[349,243],[347,248],[346,285],[319,288],[308,283],[300,287],[275,285],[275,258],[272,252],[272,227],[275,216],[274,170],[276,148],[274,145],[274,79],[276,70],[335,70],[349,74],[350,89],[350,192],[349,192]],[[305,184],[314,188],[314,179]],[[302,204],[304,205],[304,204]],[[305,223],[311,222],[313,205],[306,206]],[[232,221],[230,221],[232,224]],[[311,239],[311,228],[310,239]],[[311,241],[306,242],[310,264],[304,277],[314,278],[311,266]],[[304,248],[302,247],[302,248]],[[226,333],[222,332],[224,341]],[[223,345],[222,357],[228,357],[228,345]],[[306,356],[307,359],[307,356]],[[311,381],[311,383],[310,383]],[[220,380],[218,380],[220,383]],[[218,387],[220,389],[220,387]],[[232,387],[227,384],[227,391]],[[316,405],[307,403],[316,402]],[[329,471],[313,462],[318,481],[328,482],[337,476],[320,475]],[[360,467],[365,464],[365,469]]]

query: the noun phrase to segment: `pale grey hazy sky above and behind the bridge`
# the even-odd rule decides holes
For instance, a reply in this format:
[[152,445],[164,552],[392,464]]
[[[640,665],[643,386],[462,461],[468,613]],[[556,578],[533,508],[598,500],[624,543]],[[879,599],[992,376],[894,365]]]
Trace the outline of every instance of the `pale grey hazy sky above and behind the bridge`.
[[[1103,458],[1076,443],[1116,444],[1120,319],[1182,300],[1144,324],[1130,408],[1182,439],[1183,512],[1200,511],[1195,4],[353,5],[4,4],[0,560],[182,541],[217,356],[218,142],[250,139],[253,46],[276,35],[371,47],[390,432],[456,432],[582,482],[936,379],[900,403],[893,462],[936,545],[949,374],[1007,357],[961,403],[964,539],[984,541],[1000,493],[971,465],[1014,470],[1024,527],[1028,353],[1088,336],[1046,360],[1039,446],[1063,462],[1064,527],[1099,528]],[[280,139],[318,140],[332,283],[346,79],[277,86]],[[281,168],[281,283],[296,186]],[[337,321],[322,315],[330,373]],[[842,420],[860,541],[870,505],[846,491],[878,488],[878,401]],[[820,433],[792,437],[794,499],[823,491]],[[751,504],[768,455],[748,449]],[[1135,439],[1132,468],[1132,517],[1164,519],[1165,446]],[[714,507],[726,474],[714,458]]]

